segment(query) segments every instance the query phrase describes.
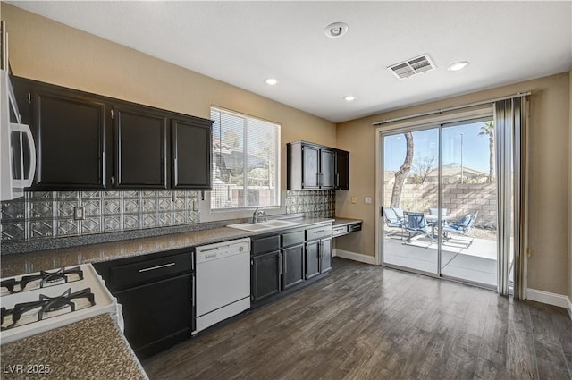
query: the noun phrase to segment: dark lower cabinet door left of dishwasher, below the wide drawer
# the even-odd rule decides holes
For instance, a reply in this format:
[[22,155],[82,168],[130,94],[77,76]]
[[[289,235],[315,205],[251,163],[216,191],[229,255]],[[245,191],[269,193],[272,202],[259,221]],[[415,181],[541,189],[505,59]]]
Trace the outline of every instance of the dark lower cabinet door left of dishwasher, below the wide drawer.
[[191,274],[114,293],[122,304],[125,337],[139,359],[190,337],[192,294]]

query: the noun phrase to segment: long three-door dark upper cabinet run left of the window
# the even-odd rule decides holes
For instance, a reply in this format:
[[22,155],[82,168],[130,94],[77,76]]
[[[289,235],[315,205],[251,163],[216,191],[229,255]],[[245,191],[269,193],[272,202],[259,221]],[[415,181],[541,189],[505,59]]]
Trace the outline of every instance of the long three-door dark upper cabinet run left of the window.
[[37,149],[30,190],[212,190],[212,121],[13,77]]

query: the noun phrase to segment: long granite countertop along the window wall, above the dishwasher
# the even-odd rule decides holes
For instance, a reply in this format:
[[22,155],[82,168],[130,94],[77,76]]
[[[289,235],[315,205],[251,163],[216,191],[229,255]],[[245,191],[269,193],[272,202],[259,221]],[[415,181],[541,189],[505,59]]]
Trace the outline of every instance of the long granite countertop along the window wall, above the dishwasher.
[[[299,228],[324,222],[334,222],[334,219],[329,218],[301,218],[290,220],[299,222],[299,224],[290,228]],[[356,222],[356,220],[353,221]],[[284,229],[287,229],[287,227],[282,228],[282,230]],[[148,238],[90,244],[80,247],[13,253],[2,256],[0,277],[5,278],[18,274],[59,268],[62,266],[76,266],[78,264],[88,262],[109,261],[116,258],[128,258],[167,250],[197,247],[214,242],[246,238],[264,233],[268,233],[268,231],[248,232],[231,227],[219,227]]]

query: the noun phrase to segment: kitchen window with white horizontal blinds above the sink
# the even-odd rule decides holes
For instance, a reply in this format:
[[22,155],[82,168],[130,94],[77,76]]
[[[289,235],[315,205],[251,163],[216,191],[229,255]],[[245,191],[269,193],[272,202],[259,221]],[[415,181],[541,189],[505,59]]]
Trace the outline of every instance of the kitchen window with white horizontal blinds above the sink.
[[280,206],[280,124],[211,107],[211,210]]

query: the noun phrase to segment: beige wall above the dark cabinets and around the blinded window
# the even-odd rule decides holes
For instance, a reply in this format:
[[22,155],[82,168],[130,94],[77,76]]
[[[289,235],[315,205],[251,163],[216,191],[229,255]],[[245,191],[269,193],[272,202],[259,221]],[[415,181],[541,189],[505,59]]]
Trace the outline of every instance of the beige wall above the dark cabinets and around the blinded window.
[[[0,3],[0,7],[10,34],[15,75],[204,118],[210,117],[210,106],[215,105],[278,122],[282,125],[282,168],[286,167],[287,142],[305,139],[335,147],[332,122],[10,4]],[[281,182],[283,199],[284,170]],[[207,205],[201,206],[202,221],[251,214],[209,215]],[[284,212],[282,207],[269,214]]]

